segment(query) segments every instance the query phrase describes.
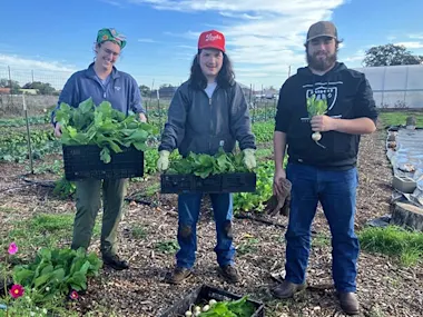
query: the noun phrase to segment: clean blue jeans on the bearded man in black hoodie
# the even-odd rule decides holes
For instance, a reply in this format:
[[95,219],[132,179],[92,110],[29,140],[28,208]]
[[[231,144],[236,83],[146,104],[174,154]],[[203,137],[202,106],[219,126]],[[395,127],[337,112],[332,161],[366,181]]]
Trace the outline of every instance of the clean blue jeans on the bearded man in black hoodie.
[[332,276],[340,293],[356,290],[360,245],[354,234],[357,170],[329,171],[288,164],[292,182],[286,238],[286,279],[303,284],[309,256],[311,226],[321,201],[332,234]]

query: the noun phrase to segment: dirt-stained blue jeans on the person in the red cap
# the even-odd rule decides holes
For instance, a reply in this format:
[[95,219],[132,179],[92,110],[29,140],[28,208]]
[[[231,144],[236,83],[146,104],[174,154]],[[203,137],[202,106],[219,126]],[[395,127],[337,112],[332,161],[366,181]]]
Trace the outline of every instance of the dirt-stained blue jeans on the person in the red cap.
[[[178,197],[178,244],[177,266],[193,268],[197,251],[197,221],[203,194],[181,194]],[[232,235],[232,194],[212,194],[213,214],[216,224],[217,244],[215,252],[219,266],[233,265],[235,247]]]

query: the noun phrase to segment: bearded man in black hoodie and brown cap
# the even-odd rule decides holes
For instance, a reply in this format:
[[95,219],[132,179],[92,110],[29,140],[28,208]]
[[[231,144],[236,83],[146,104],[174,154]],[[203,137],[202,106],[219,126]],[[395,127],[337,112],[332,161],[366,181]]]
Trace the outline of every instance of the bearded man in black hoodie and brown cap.
[[[356,161],[360,136],[376,130],[377,110],[365,75],[337,61],[340,43],[332,22],[311,26],[305,42],[308,65],[289,77],[279,91],[274,192],[284,190],[283,179],[292,182],[292,190],[285,234],[286,278],[273,294],[285,299],[306,287],[311,226],[321,202],[332,234],[332,274],[341,307],[346,314],[356,315]],[[323,111],[311,111],[312,108]]]

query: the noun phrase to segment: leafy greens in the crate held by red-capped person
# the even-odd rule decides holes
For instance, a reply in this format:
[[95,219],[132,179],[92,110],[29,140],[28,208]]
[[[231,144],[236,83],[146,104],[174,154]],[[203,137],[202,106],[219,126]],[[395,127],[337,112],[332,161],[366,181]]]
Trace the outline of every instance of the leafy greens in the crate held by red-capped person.
[[194,174],[201,178],[227,172],[247,172],[243,153],[227,153],[220,148],[215,156],[190,152],[186,158],[173,160],[168,174]]

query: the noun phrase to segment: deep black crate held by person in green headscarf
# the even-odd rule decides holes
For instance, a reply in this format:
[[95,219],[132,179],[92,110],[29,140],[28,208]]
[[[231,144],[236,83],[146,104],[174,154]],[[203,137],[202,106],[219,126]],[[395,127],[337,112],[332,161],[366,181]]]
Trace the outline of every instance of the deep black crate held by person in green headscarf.
[[122,147],[122,152],[110,150],[111,160],[100,159],[98,146],[63,146],[65,177],[67,180],[85,178],[118,179],[144,176],[144,152]]

